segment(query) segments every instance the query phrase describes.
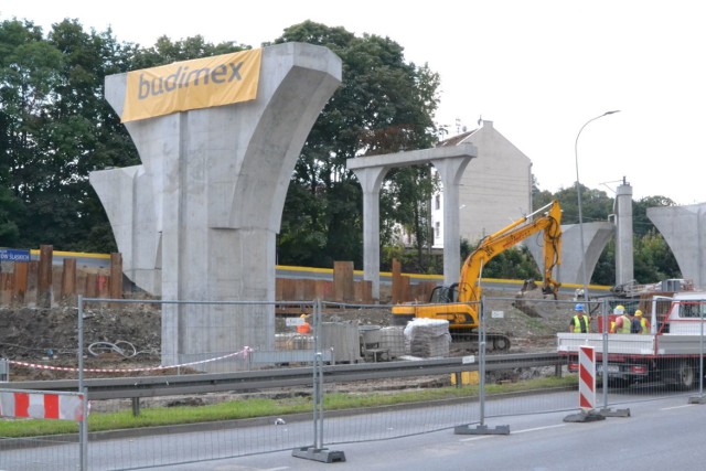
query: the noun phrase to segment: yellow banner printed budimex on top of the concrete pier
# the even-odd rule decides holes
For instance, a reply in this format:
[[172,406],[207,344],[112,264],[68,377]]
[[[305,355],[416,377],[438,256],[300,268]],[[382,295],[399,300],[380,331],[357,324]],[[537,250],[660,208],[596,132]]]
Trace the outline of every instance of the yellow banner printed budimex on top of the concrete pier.
[[257,97],[263,50],[128,72],[122,122]]

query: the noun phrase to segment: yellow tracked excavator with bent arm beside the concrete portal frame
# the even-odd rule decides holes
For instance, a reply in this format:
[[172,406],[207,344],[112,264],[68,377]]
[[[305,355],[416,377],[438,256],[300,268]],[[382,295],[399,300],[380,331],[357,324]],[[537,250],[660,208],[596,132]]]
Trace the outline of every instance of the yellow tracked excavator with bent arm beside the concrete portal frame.
[[[405,303],[393,307],[393,322],[406,325],[414,318],[449,321],[449,331],[454,341],[474,340],[478,335],[481,300],[481,272],[493,257],[527,237],[544,231],[544,280],[542,292],[557,298],[560,283],[552,277],[554,267],[561,264],[561,207],[553,201],[534,213],[521,217],[509,226],[484,237],[478,248],[468,256],[461,268],[458,283],[438,286],[431,292],[429,303]],[[532,288],[535,288],[532,281]],[[528,288],[525,281],[523,291]],[[489,350],[506,351],[510,338],[501,333],[486,333]]]

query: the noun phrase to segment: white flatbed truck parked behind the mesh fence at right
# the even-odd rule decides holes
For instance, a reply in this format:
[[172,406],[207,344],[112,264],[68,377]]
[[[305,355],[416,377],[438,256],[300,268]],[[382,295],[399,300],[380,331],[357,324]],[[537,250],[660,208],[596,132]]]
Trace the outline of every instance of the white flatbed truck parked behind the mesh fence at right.
[[[686,315],[668,318],[672,295],[591,301],[589,334],[560,333],[558,351],[576,372],[579,346],[596,353],[597,407],[704,394],[704,300],[674,303]],[[641,315],[634,315],[640,311]],[[573,313],[575,314],[575,312]],[[569,314],[569,317],[573,317]],[[621,324],[624,323],[624,330]],[[695,399],[696,398],[696,399]]]

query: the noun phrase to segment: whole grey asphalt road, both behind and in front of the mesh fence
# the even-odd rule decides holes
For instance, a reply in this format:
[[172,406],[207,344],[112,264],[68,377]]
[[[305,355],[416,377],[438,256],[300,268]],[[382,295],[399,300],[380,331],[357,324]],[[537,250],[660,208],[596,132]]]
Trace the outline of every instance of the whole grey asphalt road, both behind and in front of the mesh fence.
[[[566,396],[566,397],[565,397]],[[535,410],[547,402],[553,409],[576,402],[576,392],[525,397],[535,402]],[[569,402],[565,402],[567,399]],[[513,399],[502,399],[513,400]],[[371,471],[580,471],[580,470],[698,470],[703,469],[703,443],[706,441],[706,406],[689,405],[688,396],[657,398],[650,390],[613,394],[613,409],[629,409],[630,417],[608,417],[592,422],[567,422],[564,419],[578,410],[494,416],[494,408],[507,410],[502,400],[489,403],[485,425],[494,429],[507,426],[510,435],[454,435],[453,427],[404,438],[385,439],[389,424],[418,427],[429,420],[429,409],[409,409],[385,421],[386,413],[329,419],[350,435],[339,435],[338,445],[328,452],[343,454],[345,461],[322,463],[292,456],[292,450],[312,437],[312,422],[274,424],[257,427],[224,429],[216,435],[185,431],[160,436],[136,435],[89,443],[90,470],[169,469],[173,471],[310,471],[334,469]],[[431,409],[437,409],[436,407]],[[434,410],[436,424],[463,424],[458,409]],[[377,439],[361,441],[360,421],[367,432],[382,430]],[[416,422],[416,424],[415,424]],[[467,426],[475,429],[478,421]],[[186,426],[189,427],[189,426]],[[214,441],[214,437],[218,437]],[[374,436],[373,436],[374,437]],[[367,438],[371,438],[370,436]],[[324,440],[327,442],[327,440]],[[299,443],[299,445],[295,445]],[[240,458],[210,459],[220,452],[234,453],[242,446]],[[268,449],[279,452],[265,452]],[[221,451],[218,451],[222,449]],[[77,447],[42,447],[33,450],[6,450],[0,457],[0,470],[77,469]],[[60,453],[73,453],[60,456]],[[245,456],[246,453],[253,453]],[[254,454],[261,453],[261,454]],[[227,454],[221,454],[227,456]],[[28,459],[31,457],[31,459]],[[204,461],[207,459],[207,461]],[[180,462],[185,464],[170,464]],[[62,463],[62,464],[60,464]]]

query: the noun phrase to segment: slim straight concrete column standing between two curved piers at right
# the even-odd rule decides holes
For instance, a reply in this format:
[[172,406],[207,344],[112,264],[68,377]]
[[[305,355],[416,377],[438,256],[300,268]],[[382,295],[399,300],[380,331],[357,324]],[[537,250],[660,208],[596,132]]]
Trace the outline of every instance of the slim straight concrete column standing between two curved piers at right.
[[634,280],[632,249],[632,186],[623,179],[618,186],[616,203],[616,285]]

